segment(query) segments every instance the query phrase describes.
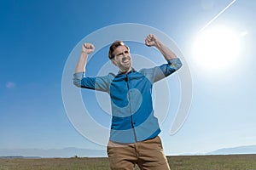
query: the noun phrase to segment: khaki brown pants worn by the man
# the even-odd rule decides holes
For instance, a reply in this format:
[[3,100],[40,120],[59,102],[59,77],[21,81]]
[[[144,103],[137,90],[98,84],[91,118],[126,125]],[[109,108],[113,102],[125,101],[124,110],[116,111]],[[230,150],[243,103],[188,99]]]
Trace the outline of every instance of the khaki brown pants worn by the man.
[[135,144],[108,142],[108,160],[112,170],[170,170],[160,137]]

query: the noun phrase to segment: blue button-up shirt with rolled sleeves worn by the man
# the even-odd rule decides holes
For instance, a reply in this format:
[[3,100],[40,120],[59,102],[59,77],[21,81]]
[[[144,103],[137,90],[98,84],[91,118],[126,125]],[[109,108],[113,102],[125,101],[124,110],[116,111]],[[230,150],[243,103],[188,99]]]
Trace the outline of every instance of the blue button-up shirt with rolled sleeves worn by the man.
[[180,59],[170,59],[165,65],[140,71],[132,69],[126,74],[85,77],[84,72],[79,72],[73,75],[73,83],[79,88],[107,92],[112,106],[110,140],[135,143],[152,139],[160,133],[152,103],[153,84],[181,66]]

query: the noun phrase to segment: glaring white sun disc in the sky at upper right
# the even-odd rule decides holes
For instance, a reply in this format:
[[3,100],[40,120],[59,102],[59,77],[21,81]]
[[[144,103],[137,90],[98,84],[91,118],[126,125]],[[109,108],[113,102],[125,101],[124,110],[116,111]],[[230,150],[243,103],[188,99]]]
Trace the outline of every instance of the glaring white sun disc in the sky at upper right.
[[237,63],[240,51],[239,34],[224,26],[201,31],[193,44],[196,64],[208,71],[230,69]]

